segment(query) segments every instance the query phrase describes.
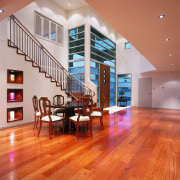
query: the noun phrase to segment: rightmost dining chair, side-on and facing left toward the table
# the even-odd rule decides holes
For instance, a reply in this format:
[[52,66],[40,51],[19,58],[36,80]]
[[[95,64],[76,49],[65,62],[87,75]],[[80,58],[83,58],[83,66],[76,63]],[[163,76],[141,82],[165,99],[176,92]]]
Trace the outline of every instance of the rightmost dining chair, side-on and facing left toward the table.
[[106,99],[105,97],[102,98],[100,107],[95,107],[95,108],[92,107],[92,113],[91,113],[92,119],[100,118],[101,129],[104,129],[104,125],[103,125],[103,108],[104,108],[105,99]]

